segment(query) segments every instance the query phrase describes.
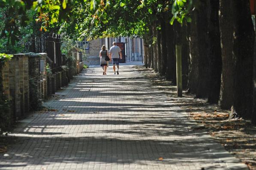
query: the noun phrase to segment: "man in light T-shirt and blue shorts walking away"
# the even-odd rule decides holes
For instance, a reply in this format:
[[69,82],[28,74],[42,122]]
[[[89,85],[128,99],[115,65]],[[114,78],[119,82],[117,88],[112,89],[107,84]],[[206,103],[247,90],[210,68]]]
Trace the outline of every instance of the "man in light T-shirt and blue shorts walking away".
[[123,58],[122,56],[122,52],[120,47],[117,46],[116,42],[113,42],[113,46],[109,49],[109,56],[110,59],[112,59],[112,63],[113,63],[113,70],[114,70],[114,74],[115,74],[115,65],[117,65],[117,74],[119,74],[119,55],[120,54],[120,59]]

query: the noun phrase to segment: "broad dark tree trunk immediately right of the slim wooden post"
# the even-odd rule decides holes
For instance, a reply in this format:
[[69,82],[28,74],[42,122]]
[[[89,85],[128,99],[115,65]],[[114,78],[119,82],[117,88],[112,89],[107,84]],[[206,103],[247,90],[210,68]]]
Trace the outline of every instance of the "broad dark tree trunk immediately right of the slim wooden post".
[[196,98],[207,98],[209,87],[209,0],[200,0],[192,13],[188,88]]

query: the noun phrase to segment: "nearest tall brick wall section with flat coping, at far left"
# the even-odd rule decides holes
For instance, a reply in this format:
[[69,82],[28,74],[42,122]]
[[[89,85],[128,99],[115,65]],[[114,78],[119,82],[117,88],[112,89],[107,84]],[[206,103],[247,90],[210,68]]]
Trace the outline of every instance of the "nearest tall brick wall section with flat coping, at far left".
[[46,54],[15,54],[3,67],[4,93],[11,101],[11,114],[14,118],[26,116],[30,109],[30,100],[33,100],[29,92],[30,77],[37,82],[39,97],[46,93],[46,85],[40,82],[41,78],[46,77],[46,72],[40,73],[39,62],[43,58],[46,62]]

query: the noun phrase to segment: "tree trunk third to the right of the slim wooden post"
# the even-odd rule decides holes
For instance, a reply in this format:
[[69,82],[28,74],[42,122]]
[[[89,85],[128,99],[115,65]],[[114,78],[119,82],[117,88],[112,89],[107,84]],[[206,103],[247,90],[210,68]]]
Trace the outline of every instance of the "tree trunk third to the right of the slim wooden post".
[[220,42],[222,74],[219,106],[230,109],[233,103],[233,11],[232,0],[220,0]]

